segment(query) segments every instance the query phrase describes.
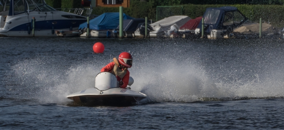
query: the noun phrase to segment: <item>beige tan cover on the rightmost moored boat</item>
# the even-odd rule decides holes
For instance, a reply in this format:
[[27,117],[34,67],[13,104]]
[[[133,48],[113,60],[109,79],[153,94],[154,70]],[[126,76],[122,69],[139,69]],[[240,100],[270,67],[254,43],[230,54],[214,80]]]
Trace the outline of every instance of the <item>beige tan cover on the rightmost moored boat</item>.
[[[262,23],[261,30],[262,32],[267,32],[271,27],[270,24]],[[259,33],[259,23],[242,24],[240,27],[235,28],[234,32],[242,34]]]

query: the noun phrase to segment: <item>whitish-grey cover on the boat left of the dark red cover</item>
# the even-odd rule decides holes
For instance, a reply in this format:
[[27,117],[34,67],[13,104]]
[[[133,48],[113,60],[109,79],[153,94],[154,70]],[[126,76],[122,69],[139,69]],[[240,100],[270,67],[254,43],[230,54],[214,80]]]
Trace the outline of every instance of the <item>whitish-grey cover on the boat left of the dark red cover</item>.
[[171,16],[150,24],[154,31],[168,31],[170,27],[176,24],[179,27],[183,26],[191,18],[188,16]]

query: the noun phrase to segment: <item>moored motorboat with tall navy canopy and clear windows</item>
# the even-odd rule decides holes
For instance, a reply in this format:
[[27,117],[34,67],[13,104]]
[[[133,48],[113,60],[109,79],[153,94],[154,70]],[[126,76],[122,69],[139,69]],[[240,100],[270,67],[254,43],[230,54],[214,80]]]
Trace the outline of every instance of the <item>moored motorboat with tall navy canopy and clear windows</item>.
[[[203,14],[204,36],[208,39],[229,38],[233,29],[247,22],[246,18],[236,7],[224,6],[207,8]],[[202,21],[195,29],[195,34],[202,34]]]

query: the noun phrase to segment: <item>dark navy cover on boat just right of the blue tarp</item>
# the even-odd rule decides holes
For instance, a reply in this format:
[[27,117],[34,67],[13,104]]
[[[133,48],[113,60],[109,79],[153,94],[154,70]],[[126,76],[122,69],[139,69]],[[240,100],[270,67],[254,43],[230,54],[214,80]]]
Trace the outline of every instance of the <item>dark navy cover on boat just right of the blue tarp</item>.
[[[123,20],[123,31],[135,32],[140,23],[145,24],[145,19],[125,19]],[[119,29],[119,26],[116,29]]]

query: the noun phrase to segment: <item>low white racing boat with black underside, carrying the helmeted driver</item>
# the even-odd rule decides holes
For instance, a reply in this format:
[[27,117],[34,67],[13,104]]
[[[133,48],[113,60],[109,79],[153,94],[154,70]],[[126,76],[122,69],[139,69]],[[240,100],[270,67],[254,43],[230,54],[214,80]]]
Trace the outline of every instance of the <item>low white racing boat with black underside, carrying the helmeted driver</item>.
[[67,98],[75,103],[88,106],[130,106],[147,98],[147,95],[131,90],[130,85],[134,82],[129,78],[129,87],[119,88],[115,75],[109,72],[101,72],[96,75],[95,87],[72,93]]

